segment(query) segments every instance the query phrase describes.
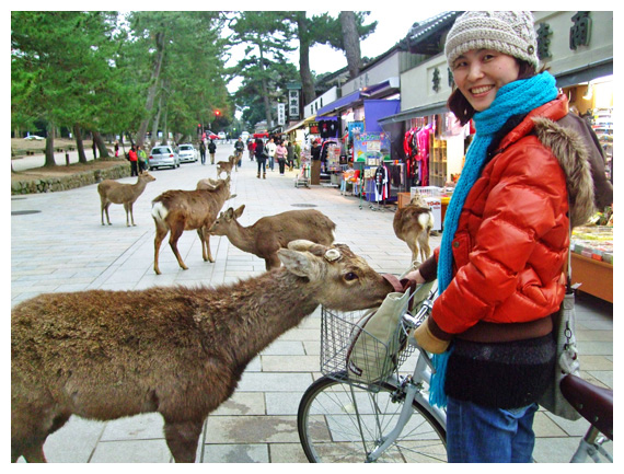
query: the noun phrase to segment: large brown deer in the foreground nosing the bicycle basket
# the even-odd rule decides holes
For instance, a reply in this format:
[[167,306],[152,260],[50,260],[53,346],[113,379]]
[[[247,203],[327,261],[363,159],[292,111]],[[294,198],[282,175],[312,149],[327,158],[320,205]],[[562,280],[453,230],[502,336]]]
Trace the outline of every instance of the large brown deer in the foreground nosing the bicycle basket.
[[346,245],[297,241],[284,267],[218,288],[51,293],[11,315],[11,461],[45,462],[77,415],[158,412],[176,462],[194,462],[209,413],[247,363],[316,307],[379,305],[393,286]]

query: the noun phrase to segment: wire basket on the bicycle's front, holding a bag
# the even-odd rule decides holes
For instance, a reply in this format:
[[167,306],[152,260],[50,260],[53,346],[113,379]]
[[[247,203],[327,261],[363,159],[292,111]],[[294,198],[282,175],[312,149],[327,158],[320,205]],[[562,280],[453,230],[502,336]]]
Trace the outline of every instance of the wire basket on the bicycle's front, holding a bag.
[[407,330],[402,323],[385,343],[362,328],[361,322],[370,314],[371,310],[343,313],[322,308],[321,372],[374,391],[415,349],[407,344]]

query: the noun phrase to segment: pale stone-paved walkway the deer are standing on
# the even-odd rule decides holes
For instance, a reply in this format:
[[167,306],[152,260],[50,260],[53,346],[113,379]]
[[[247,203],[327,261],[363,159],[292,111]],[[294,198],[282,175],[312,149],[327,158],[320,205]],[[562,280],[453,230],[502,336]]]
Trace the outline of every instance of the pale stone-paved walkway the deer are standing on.
[[[222,144],[218,160],[231,152]],[[216,263],[201,259],[196,232],[178,242],[189,267],[182,270],[163,243],[160,268],[153,273],[154,226],[151,199],[166,189],[193,189],[199,178],[216,177],[216,166],[183,164],[160,170],[135,205],[137,227],[126,228],[122,206],[113,205],[113,226],[101,226],[96,185],[62,193],[11,199],[11,304],[42,292],[86,289],[142,289],[154,286],[222,285],[264,271],[264,261],[246,254],[227,238],[210,240]],[[407,245],[394,235],[391,210],[372,210],[367,203],[343,196],[337,188],[293,185],[294,172],[256,178],[255,162],[246,152],[243,166],[232,173],[238,195],[230,205],[245,205],[240,219],[250,226],[258,218],[302,206],[315,206],[337,223],[336,240],[367,258],[379,271],[401,274],[409,261]],[[122,182],[132,183],[135,178]],[[22,211],[13,215],[15,211]],[[26,213],[23,213],[26,211]],[[432,238],[432,246],[440,238]],[[589,297],[579,298],[578,338],[583,377],[613,386],[612,307]],[[289,331],[247,367],[232,398],[210,415],[200,438],[200,462],[305,462],[297,435],[297,407],[303,391],[317,378],[319,312]],[[158,414],[108,423],[72,417],[45,444],[49,462],[172,462]],[[535,419],[538,462],[569,460],[587,423],[575,423],[539,412]]]

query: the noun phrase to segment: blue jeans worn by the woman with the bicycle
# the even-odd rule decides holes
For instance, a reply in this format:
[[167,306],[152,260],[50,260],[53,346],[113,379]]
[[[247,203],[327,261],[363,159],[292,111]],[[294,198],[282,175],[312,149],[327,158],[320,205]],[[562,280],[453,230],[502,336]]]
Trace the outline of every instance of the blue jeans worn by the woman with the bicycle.
[[448,397],[449,462],[532,462],[535,403],[521,408],[489,408]]

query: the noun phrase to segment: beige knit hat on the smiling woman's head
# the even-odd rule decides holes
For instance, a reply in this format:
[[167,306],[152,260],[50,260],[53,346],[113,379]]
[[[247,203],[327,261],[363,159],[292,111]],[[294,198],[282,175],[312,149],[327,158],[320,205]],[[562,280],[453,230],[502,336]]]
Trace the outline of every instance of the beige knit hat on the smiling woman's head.
[[531,12],[465,12],[447,36],[449,68],[471,49],[495,49],[539,68],[538,38]]

